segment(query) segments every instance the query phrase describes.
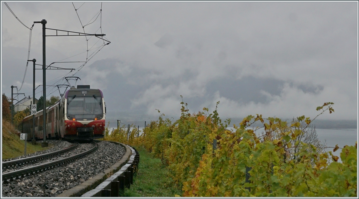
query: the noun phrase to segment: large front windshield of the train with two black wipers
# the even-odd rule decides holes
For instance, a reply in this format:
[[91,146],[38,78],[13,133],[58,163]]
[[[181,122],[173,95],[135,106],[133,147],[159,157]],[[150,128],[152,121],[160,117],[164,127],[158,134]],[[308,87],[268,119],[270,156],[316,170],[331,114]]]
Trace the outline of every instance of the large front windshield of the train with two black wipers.
[[75,116],[76,119],[93,120],[102,114],[101,97],[93,96],[71,96],[68,99],[67,114]]

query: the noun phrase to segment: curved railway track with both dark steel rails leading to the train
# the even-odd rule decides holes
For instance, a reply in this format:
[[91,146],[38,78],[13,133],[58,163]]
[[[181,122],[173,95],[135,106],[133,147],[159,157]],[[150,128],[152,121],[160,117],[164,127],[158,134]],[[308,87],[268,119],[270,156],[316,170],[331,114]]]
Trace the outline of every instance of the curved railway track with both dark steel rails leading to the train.
[[[54,167],[64,165],[65,163],[75,161],[76,159],[79,159],[79,158],[82,158],[84,156],[87,156],[88,154],[93,153],[93,152],[95,152],[97,150],[97,148],[98,148],[97,143],[92,142],[91,144],[93,145],[93,147],[90,148],[89,150],[84,151],[84,152],[79,153],[79,154],[75,154],[75,155],[70,156],[70,157],[65,157],[65,158],[62,158],[62,159],[55,160],[55,161],[43,163],[41,165],[36,165],[36,166],[32,166],[32,167],[27,167],[27,168],[23,168],[23,169],[11,171],[11,172],[3,173],[1,181],[3,181],[4,183],[11,182],[11,181],[14,181],[16,179],[23,178],[24,176],[30,176],[30,175],[36,174],[38,172],[46,171],[46,170],[52,169]],[[5,167],[10,167],[10,166],[14,166],[14,165],[28,164],[29,162],[34,162],[34,161],[39,160],[39,159],[50,158],[50,157],[53,157],[53,156],[68,152],[70,150],[73,150],[76,147],[78,147],[78,143],[72,145],[71,147],[62,149],[60,151],[56,151],[56,152],[52,152],[52,153],[48,153],[48,154],[43,154],[43,155],[39,155],[39,156],[33,156],[33,157],[29,157],[29,158],[17,159],[17,160],[14,160],[14,161],[4,162]],[[3,168],[4,168],[4,163],[3,163]]]

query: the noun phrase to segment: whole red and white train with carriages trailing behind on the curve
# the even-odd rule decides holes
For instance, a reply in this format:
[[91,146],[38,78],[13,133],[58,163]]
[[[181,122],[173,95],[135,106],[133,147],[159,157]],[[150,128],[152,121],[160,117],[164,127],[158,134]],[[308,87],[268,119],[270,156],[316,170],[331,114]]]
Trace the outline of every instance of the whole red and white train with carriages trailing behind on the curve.
[[[71,87],[54,105],[46,107],[46,138],[93,140],[104,137],[106,104],[100,89],[89,85]],[[43,139],[43,110],[25,117],[18,130],[27,133],[27,140]]]

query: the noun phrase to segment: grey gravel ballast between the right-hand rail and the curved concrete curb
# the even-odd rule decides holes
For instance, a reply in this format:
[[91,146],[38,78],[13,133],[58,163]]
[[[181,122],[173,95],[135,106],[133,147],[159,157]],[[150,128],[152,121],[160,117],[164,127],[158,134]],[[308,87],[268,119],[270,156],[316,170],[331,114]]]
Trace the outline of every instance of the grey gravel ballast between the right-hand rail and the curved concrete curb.
[[126,153],[122,145],[97,141],[98,150],[62,167],[43,171],[23,179],[3,183],[2,196],[52,197],[91,179],[119,161]]

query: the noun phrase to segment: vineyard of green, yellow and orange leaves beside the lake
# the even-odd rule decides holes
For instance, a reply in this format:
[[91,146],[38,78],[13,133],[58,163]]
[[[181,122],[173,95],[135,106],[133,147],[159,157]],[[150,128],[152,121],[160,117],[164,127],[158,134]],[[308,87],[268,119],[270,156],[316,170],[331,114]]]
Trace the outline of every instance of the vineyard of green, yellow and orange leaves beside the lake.
[[[173,123],[160,114],[141,135],[133,128],[127,139],[125,128],[110,135],[107,128],[104,139],[143,146],[161,158],[172,179],[169,183],[182,188],[182,196],[357,196],[357,143],[345,145],[342,162],[337,162],[339,157],[331,151],[338,146],[322,147],[299,139],[312,121],[309,117],[287,122],[249,115],[232,131],[230,120],[222,122],[217,108],[211,114],[208,108],[190,114],[187,104],[181,104],[181,117]],[[321,111],[317,117],[334,112],[333,104],[317,107]],[[262,126],[248,128],[256,121]],[[258,129],[264,129],[260,136]]]

